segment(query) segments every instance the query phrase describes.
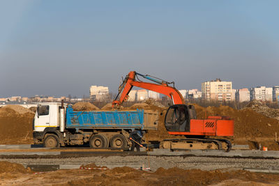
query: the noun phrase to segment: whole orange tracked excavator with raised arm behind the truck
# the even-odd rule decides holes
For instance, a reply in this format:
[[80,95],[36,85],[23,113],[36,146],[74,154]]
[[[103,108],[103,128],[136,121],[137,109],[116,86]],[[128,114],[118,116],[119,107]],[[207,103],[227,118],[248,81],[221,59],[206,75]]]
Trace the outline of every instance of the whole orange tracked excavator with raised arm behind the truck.
[[[139,76],[152,83],[142,82]],[[170,86],[171,84],[172,86]],[[234,135],[234,120],[227,116],[208,116],[206,119],[197,119],[194,105],[185,103],[181,93],[174,88],[174,82],[131,71],[119,86],[119,93],[112,102],[112,107],[117,107],[128,100],[128,94],[133,86],[161,93],[173,102],[165,114],[165,128],[169,134],[183,135],[186,138],[164,139],[160,141],[160,148],[172,150],[223,149],[226,152],[232,148],[229,140],[220,137]]]

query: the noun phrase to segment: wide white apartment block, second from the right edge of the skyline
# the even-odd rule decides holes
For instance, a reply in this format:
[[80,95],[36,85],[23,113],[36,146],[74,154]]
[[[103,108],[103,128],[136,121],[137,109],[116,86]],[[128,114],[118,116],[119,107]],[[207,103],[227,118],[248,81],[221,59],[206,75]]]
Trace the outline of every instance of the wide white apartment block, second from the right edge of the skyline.
[[265,86],[250,88],[250,100],[272,102],[272,88]]

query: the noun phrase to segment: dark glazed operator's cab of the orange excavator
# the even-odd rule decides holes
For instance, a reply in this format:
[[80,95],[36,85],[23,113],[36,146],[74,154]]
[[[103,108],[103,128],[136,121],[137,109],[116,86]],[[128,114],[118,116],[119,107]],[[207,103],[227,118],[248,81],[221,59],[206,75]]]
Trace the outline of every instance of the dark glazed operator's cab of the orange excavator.
[[190,132],[190,119],[197,118],[195,107],[186,104],[174,104],[167,109],[165,128],[169,132]]

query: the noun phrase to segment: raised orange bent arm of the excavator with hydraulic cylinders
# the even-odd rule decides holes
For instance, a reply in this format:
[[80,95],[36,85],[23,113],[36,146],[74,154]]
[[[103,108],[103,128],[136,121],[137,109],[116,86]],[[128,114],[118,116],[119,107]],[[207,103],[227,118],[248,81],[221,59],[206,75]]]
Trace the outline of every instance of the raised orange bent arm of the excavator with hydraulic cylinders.
[[[149,79],[152,82],[156,82],[156,84],[149,83],[149,82],[142,82],[139,79],[136,80],[137,75],[144,77],[145,79]],[[165,82],[163,79],[151,77],[150,75],[141,75],[140,73],[131,71],[123,80],[123,84],[119,86],[119,94],[112,102],[112,107],[121,105],[124,101],[128,100],[128,94],[130,93],[130,90],[133,88],[133,86],[145,88],[149,91],[154,91],[157,93],[162,93],[163,95],[167,95],[167,97],[172,99],[172,102],[174,104],[185,104],[185,101],[181,93],[176,88],[169,86],[169,84],[174,84],[174,82],[171,83]]]

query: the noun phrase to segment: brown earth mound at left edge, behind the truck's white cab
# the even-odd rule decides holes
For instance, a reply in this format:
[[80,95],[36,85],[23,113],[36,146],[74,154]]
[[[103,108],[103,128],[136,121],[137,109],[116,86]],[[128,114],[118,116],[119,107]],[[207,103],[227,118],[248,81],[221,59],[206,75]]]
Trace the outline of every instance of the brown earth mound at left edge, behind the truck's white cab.
[[0,144],[33,144],[34,113],[20,107],[0,109]]

